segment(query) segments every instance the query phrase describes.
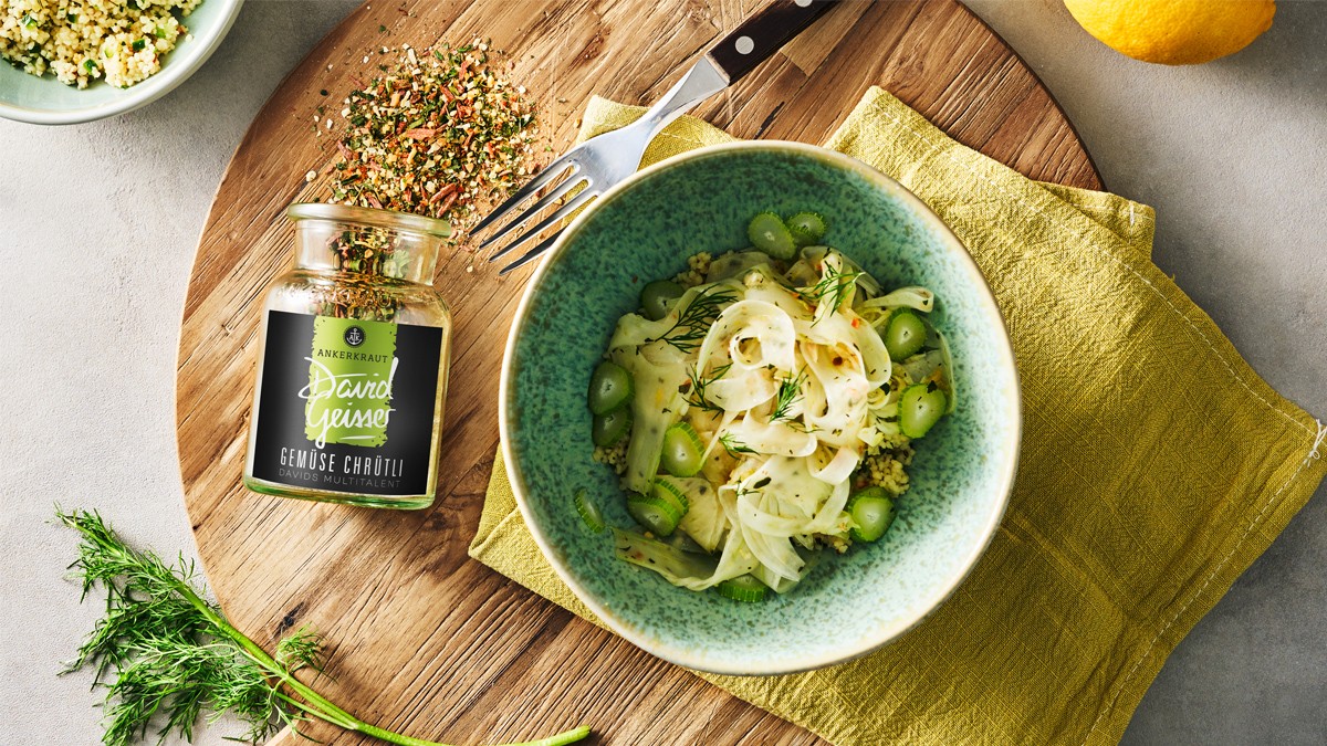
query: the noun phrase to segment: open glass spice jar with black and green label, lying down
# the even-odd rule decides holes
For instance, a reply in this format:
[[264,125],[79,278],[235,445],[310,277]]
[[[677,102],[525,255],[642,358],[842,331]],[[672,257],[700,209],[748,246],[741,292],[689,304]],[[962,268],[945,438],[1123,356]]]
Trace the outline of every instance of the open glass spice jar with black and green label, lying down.
[[433,504],[451,313],[443,220],[292,204],[295,269],[263,307],[244,486],[372,507]]

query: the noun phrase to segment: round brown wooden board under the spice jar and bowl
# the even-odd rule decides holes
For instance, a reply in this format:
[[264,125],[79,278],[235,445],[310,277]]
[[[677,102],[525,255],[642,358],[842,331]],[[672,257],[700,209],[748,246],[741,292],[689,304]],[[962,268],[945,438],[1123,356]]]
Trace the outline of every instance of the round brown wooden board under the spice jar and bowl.
[[[311,624],[330,641],[320,681],[378,725],[431,739],[525,739],[591,723],[598,743],[815,743],[816,737],[561,611],[466,556],[498,446],[503,341],[529,271],[499,279],[466,254],[435,285],[455,312],[439,499],[393,512],[267,498],[240,486],[261,291],[289,264],[281,218],[334,157],[316,108],[372,77],[384,45],[491,37],[541,104],[556,150],[591,94],[646,104],[766,0],[370,0],[263,108],[199,242],[176,386],[184,500],[227,615],[271,645]],[[380,27],[386,31],[380,31]],[[869,85],[1028,177],[1100,188],[1036,77],[954,0],[845,1],[698,115],[743,138],[824,142]],[[330,93],[324,97],[320,90]],[[322,725],[308,734],[362,739]],[[285,733],[273,743],[308,743]]]

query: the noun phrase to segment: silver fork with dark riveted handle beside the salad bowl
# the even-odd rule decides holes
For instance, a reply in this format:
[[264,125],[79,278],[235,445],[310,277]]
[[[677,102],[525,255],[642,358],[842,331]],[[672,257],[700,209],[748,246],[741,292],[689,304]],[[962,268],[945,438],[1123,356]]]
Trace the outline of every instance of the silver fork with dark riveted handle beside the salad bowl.
[[[490,261],[506,256],[518,246],[543,234],[580,207],[589,203],[610,186],[636,173],[641,165],[645,147],[654,135],[693,106],[733,85],[755,69],[756,65],[774,56],[790,38],[811,25],[820,13],[829,9],[835,0],[775,0],[756,15],[742,23],[733,33],[725,36],[710,48],[691,69],[682,76],[654,106],[650,106],[640,119],[630,125],[606,131],[588,139],[564,153],[548,165],[537,177],[511,195],[496,210],[480,220],[471,232],[478,234],[498,220],[510,215],[539,190],[551,185],[561,175],[567,179],[552,191],[527,207],[506,224],[496,228],[479,248],[487,248],[511,234],[515,228],[531,220],[547,207],[583,187],[575,196],[535,227],[508,242],[502,250],[488,258]],[[561,230],[533,248],[520,255],[515,261],[502,268],[502,275],[523,267],[548,251],[556,243]]]

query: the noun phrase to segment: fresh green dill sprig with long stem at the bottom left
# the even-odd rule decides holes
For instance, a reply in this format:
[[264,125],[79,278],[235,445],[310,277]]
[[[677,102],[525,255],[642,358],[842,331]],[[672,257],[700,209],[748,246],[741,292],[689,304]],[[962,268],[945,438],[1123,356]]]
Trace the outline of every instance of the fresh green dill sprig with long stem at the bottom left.
[[[150,550],[134,550],[96,511],[65,512],[60,523],[78,531],[78,559],[70,567],[82,599],[106,591],[106,612],[61,673],[94,668],[93,686],[106,689],[102,743],[130,746],[155,729],[157,743],[171,733],[192,741],[207,713],[215,723],[232,713],[245,723],[244,741],[259,742],[285,726],[318,718],[346,730],[402,746],[445,746],[366,723],[295,677],[322,672],[322,638],[301,627],[268,654],[232,627],[206,599],[194,565],[183,555],[174,565]],[[581,726],[512,746],[561,746],[589,734]]]

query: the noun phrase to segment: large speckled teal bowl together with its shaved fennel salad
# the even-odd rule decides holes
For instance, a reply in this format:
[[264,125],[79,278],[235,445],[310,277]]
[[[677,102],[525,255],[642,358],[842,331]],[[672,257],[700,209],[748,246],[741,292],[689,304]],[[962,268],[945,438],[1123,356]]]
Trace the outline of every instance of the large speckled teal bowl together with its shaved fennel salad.
[[934,612],[994,536],[1018,373],[985,277],[840,153],[717,145],[608,190],[520,301],[499,393],[520,518],[604,624],[775,674]]

